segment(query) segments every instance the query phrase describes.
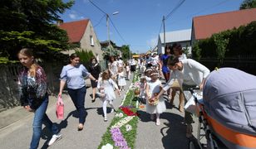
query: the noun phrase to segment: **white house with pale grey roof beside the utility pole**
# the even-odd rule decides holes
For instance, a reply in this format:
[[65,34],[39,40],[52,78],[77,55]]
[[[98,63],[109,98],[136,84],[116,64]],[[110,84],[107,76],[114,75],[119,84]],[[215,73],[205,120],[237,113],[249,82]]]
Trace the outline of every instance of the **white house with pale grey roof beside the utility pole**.
[[165,45],[171,46],[173,43],[180,43],[183,49],[187,48],[189,53],[191,53],[191,29],[180,30],[180,31],[170,31],[165,32],[165,41],[164,33],[160,33],[157,43],[157,54],[165,53]]

